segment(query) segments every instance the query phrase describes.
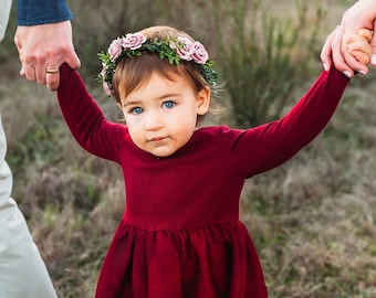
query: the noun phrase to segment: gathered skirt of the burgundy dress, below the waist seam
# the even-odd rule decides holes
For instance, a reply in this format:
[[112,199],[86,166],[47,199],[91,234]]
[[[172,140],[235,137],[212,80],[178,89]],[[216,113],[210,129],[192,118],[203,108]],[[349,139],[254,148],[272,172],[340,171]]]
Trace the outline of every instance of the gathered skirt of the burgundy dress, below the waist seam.
[[187,231],[119,223],[96,298],[265,298],[254,245],[241,222]]

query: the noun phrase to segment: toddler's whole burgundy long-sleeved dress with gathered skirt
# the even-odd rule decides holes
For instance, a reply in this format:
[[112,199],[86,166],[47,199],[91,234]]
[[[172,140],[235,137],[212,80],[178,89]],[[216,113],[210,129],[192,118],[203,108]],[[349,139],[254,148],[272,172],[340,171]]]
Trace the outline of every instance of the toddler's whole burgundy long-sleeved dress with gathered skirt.
[[125,125],[106,120],[79,73],[63,65],[58,96],[73,136],[117,162],[126,185],[96,297],[268,297],[239,221],[240,193],[246,179],[285,162],[325,127],[348,83],[332,68],[281,120],[201,128],[173,156],[156,158],[134,145]]

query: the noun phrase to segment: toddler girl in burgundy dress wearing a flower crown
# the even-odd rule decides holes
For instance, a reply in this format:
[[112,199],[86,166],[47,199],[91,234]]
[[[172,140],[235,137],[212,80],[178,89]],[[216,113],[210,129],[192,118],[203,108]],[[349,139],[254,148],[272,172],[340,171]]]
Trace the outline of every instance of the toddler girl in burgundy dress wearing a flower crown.
[[[365,64],[368,40],[349,41]],[[124,217],[96,297],[268,297],[255,247],[239,221],[244,180],[310,143],[332,117],[348,78],[335,67],[324,71],[290,113],[270,124],[198,128],[217,82],[201,43],[153,26],[114,40],[100,56],[105,92],[115,97],[126,125],[106,120],[66,65],[58,92],[77,142],[117,162],[126,184]]]

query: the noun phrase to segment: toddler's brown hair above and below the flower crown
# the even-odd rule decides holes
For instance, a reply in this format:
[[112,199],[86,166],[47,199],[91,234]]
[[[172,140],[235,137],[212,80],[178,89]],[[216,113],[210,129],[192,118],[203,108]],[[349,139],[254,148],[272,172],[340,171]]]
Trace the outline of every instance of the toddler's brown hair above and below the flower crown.
[[[149,36],[150,39],[164,39],[185,36],[194,41],[191,36],[182,31],[178,31],[170,26],[150,26],[142,30],[139,33]],[[145,52],[140,56],[132,58],[123,58],[116,66],[113,77],[114,97],[117,103],[121,103],[122,97],[128,96],[134,89],[146,83],[152,74],[157,73],[167,79],[174,81],[175,75],[185,76],[191,83],[196,93],[202,88],[212,87],[203,79],[198,71],[195,70],[192,63],[180,61],[179,65],[174,65],[168,60],[161,60],[157,54]],[[123,94],[119,94],[119,91]],[[213,91],[217,93],[217,91]],[[213,111],[213,100],[210,100],[210,110]],[[202,118],[202,117],[201,117]]]

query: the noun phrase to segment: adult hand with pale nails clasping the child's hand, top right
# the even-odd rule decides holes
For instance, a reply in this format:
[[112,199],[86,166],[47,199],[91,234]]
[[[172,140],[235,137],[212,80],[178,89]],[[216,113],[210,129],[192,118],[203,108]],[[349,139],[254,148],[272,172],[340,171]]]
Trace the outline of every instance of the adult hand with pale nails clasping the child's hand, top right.
[[[335,67],[346,74],[353,76],[354,72],[366,74],[368,67],[359,63],[353,55],[348,53],[346,36],[357,33],[359,29],[368,29],[376,31],[376,3],[375,0],[359,0],[351,7],[344,14],[341,25],[333,32],[324,44],[321,53],[321,60],[327,70],[332,62]],[[370,40],[373,47],[372,65],[376,65],[376,38],[375,34]],[[333,55],[332,55],[333,54]],[[333,61],[332,61],[333,58]]]

